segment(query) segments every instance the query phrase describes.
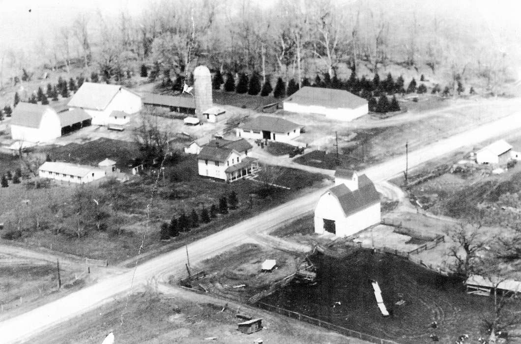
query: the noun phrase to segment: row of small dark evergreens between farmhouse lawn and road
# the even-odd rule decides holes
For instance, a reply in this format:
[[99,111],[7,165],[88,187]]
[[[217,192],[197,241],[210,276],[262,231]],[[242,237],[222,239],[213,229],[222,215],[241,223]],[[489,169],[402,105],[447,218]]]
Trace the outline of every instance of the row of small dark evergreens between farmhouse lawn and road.
[[159,229],[160,240],[168,240],[170,238],[178,237],[181,232],[188,232],[192,228],[197,228],[201,223],[207,224],[212,219],[217,217],[217,214],[228,214],[229,210],[237,209],[239,206],[239,197],[235,191],[232,191],[228,196],[223,195],[219,199],[219,205],[212,204],[209,210],[203,207],[200,213],[195,209],[187,215],[184,211],[179,216],[173,216],[170,223],[163,223]]

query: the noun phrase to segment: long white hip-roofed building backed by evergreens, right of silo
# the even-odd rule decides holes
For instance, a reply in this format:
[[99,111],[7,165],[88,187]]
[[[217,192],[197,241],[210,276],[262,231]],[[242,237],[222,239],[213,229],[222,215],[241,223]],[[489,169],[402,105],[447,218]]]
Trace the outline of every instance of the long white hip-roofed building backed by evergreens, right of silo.
[[304,114],[326,115],[327,118],[350,121],[367,115],[365,99],[345,90],[305,86],[282,102],[284,110]]

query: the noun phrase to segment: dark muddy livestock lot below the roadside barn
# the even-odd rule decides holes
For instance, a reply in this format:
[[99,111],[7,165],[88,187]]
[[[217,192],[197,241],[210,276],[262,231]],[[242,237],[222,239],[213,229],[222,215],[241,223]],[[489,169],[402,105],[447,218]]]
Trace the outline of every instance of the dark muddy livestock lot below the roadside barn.
[[[356,250],[344,259],[312,258],[319,272],[316,286],[291,284],[262,302],[320,318],[349,329],[400,343],[453,343],[462,334],[476,342],[491,310],[487,297],[465,293],[460,280],[443,277],[391,255]],[[374,279],[392,315],[383,317],[369,280]],[[395,305],[400,299],[405,304]],[[338,302],[338,303],[337,303]],[[511,310],[519,309],[517,300]],[[436,321],[439,327],[430,328]]]

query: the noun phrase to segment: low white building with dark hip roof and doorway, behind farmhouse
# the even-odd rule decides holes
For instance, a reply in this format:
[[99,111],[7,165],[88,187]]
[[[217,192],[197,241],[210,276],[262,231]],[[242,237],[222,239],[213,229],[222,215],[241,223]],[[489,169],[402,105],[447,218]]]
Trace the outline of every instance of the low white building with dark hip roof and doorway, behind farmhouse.
[[237,129],[237,136],[245,139],[291,141],[300,136],[301,126],[287,119],[272,116],[258,116],[244,122]]

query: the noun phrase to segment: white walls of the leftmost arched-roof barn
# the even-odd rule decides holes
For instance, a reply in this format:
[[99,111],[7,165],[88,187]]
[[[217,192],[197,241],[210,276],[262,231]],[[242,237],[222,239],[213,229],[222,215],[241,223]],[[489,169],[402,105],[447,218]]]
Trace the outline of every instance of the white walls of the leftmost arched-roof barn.
[[43,114],[40,128],[11,125],[10,129],[13,140],[46,142],[61,136],[60,119],[51,109],[47,109]]

